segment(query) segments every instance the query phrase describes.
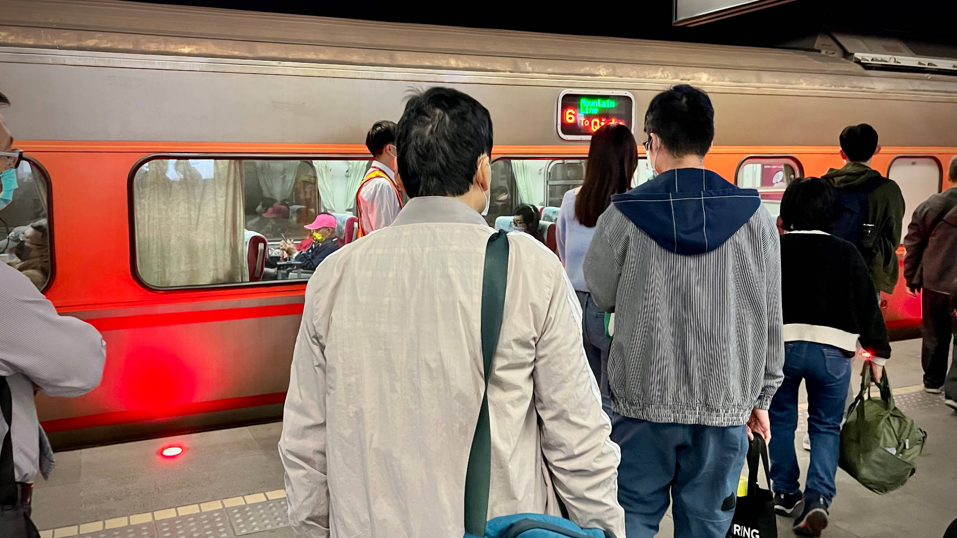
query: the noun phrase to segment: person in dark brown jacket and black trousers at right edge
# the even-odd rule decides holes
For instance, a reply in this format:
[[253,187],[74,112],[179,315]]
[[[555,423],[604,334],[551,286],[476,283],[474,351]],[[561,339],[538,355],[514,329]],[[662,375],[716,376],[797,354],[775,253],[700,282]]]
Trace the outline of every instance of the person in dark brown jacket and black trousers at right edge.
[[[945,376],[953,378],[945,387],[947,405],[957,410],[957,350],[947,374],[951,326],[947,308],[951,285],[957,280],[957,158],[950,161],[950,189],[927,198],[914,210],[903,246],[903,277],[911,295],[921,292],[924,347],[924,392],[940,394]],[[957,343],[957,336],[953,336]]]

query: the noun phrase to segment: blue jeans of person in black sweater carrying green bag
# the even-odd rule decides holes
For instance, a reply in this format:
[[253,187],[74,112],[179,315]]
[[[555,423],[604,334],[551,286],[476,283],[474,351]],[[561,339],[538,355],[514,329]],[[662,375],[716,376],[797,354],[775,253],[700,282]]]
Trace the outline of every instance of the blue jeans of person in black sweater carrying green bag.
[[825,344],[789,342],[785,345],[784,382],[775,392],[769,411],[768,452],[775,493],[801,491],[794,431],[797,429],[797,389],[802,379],[808,389],[808,434],[811,436],[811,464],[804,497],[821,496],[830,504],[836,493],[840,421],[851,383],[851,358],[845,351]]

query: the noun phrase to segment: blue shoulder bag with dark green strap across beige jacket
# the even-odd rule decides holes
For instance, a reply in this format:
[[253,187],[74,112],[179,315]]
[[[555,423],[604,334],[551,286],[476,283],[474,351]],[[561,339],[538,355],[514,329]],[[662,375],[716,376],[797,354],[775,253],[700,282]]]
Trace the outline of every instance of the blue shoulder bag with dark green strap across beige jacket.
[[488,421],[488,377],[499,343],[505,281],[508,277],[508,236],[500,231],[488,239],[481,289],[481,355],[485,377],[479,421],[469,466],[465,471],[465,538],[614,538],[612,532],[583,529],[567,519],[543,514],[515,514],[486,521],[488,481],[492,466],[492,436]]

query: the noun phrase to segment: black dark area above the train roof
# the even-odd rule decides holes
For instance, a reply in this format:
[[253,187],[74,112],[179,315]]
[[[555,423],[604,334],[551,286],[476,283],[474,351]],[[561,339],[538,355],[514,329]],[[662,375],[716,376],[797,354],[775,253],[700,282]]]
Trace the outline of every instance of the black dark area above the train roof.
[[828,28],[895,36],[908,41],[957,44],[957,2],[952,0],[795,0],[694,28],[672,26],[671,0],[550,2],[551,7],[547,8],[525,7],[518,2],[432,3],[430,7],[396,1],[342,0],[166,0],[153,3],[762,47],[811,48],[813,37]]

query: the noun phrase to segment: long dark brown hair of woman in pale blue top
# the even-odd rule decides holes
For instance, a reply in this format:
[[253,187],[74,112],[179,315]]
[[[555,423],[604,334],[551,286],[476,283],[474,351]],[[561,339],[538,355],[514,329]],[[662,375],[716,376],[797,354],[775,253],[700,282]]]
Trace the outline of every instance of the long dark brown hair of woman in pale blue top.
[[631,129],[612,123],[595,131],[585,165],[585,183],[575,197],[575,218],[582,226],[592,228],[611,205],[612,194],[628,191],[637,166],[638,146]]

